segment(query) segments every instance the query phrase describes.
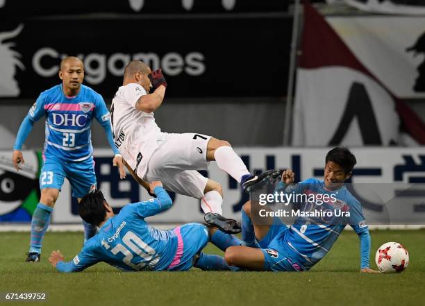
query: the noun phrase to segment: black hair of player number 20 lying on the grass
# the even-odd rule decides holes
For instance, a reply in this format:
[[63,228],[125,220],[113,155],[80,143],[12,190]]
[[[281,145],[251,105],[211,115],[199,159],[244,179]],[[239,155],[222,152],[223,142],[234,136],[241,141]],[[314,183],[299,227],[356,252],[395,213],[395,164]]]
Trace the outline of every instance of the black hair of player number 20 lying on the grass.
[[106,201],[100,190],[86,194],[78,204],[78,214],[85,222],[99,226],[106,219],[106,207],[103,203]]

